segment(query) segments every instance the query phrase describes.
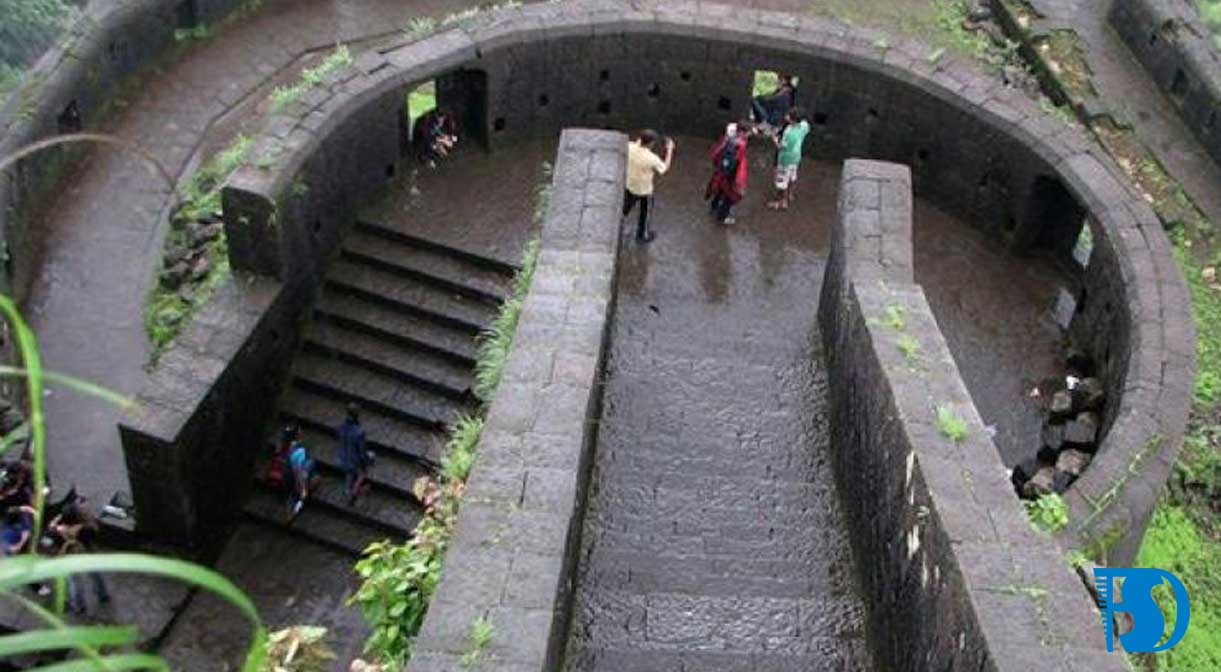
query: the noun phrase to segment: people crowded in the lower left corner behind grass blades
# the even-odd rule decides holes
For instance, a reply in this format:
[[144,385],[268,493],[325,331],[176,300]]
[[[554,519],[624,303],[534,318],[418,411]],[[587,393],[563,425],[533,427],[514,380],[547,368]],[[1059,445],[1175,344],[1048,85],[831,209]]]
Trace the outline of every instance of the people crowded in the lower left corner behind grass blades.
[[[99,534],[98,518],[84,497],[76,490],[60,501],[46,507],[50,522],[38,539],[35,534],[34,508],[34,472],[28,455],[0,464],[0,509],[4,511],[4,523],[0,527],[0,545],[4,556],[16,556],[38,552],[48,556],[62,556],[90,551]],[[93,584],[94,596],[99,606],[110,602],[110,591],[101,574],[68,575],[67,607],[72,613],[83,615],[88,611],[84,582]],[[37,586],[39,595],[49,595],[51,586]]]

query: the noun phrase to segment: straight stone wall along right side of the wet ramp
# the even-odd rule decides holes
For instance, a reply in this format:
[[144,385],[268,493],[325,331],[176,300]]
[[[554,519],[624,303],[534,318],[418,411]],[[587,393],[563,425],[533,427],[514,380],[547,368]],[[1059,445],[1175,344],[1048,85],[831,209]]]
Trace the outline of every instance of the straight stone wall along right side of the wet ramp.
[[[1126,670],[1009,489],[911,266],[905,166],[845,163],[819,323],[832,450],[888,670]],[[955,441],[939,407],[960,418]]]

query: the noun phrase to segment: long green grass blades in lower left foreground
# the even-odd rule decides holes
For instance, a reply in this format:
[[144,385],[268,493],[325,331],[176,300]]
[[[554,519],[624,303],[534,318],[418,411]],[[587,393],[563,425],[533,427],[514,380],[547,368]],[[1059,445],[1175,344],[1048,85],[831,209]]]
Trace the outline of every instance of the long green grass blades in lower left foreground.
[[[31,450],[33,453],[34,474],[34,529],[32,536],[38,539],[43,527],[43,506],[45,503],[44,486],[46,484],[46,430],[43,415],[43,382],[48,378],[43,370],[38,345],[29,326],[17,312],[16,304],[0,294],[0,313],[7,319],[16,336],[17,352],[21,356],[21,368],[11,368],[5,375],[21,375],[26,379],[26,398],[29,406]],[[71,380],[57,376],[61,380]],[[77,381],[73,387],[85,393],[100,392],[94,385]],[[115,400],[114,395],[103,395]],[[127,402],[129,403],[129,402]],[[42,629],[0,635],[0,655],[12,652],[63,652],[76,654],[74,657],[53,663],[38,670],[168,670],[159,656],[147,652],[129,652],[139,637],[136,627],[128,626],[70,626],[63,621],[62,586],[67,577],[85,573],[138,573],[171,578],[204,588],[233,605],[252,622],[250,646],[242,670],[258,672],[265,657],[267,640],[266,630],[259,618],[254,602],[228,579],[198,564],[181,560],[154,557],[142,553],[82,553],[61,557],[42,557],[37,555],[37,544],[31,545],[27,555],[9,557],[0,563],[0,595],[7,597],[20,608],[28,611],[43,623]],[[22,590],[33,583],[53,583],[59,590],[59,599],[53,608],[22,595]]]

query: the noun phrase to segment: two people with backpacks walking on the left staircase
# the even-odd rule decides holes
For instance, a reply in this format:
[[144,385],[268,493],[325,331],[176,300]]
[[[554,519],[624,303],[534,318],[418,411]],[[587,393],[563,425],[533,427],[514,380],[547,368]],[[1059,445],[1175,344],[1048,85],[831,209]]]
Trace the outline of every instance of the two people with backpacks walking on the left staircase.
[[[343,423],[336,429],[339,442],[339,468],[344,473],[344,496],[348,505],[368,491],[369,468],[374,453],[365,445],[365,430],[360,426],[360,407],[348,404]],[[317,462],[302,441],[300,429],[291,424],[283,429],[280,444],[267,469],[267,481],[284,490],[288,496],[288,518],[297,517],[305,507],[310,492],[321,483]]]

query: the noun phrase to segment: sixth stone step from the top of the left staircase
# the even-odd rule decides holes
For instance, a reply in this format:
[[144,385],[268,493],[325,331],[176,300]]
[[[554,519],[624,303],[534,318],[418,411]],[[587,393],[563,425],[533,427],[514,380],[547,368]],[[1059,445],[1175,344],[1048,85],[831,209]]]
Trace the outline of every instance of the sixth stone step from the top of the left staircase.
[[302,352],[293,360],[293,384],[425,429],[443,429],[473,411],[431,390],[311,352]]

